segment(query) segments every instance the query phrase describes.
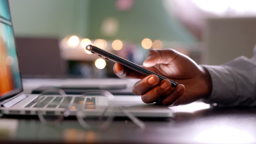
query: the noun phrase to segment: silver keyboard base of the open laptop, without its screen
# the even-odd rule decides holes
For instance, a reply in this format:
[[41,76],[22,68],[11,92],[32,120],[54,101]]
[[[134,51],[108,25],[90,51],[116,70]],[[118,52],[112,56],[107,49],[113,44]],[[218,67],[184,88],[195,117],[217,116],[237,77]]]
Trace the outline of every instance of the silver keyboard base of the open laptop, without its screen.
[[[97,113],[97,106],[102,107],[103,105],[116,105],[125,108],[127,111],[132,113],[136,117],[173,117],[174,112],[166,106],[159,106],[155,104],[144,104],[140,96],[115,96],[113,100],[106,100],[104,96],[86,96],[81,97],[81,95],[49,95],[45,96],[43,100],[38,101],[38,96],[36,94],[28,94],[25,95],[20,93],[16,95],[14,98],[10,100],[6,100],[1,103],[0,110],[4,114],[9,115],[37,115],[37,111],[40,112],[54,112],[56,115],[64,112],[68,106],[68,104],[77,103],[78,101],[83,107],[84,112],[89,113]],[[19,101],[20,98],[23,98]],[[87,99],[92,102],[90,103],[90,108],[88,108],[86,102]],[[19,102],[17,102],[19,101]],[[16,104],[14,104],[17,102]],[[14,104],[14,105],[13,105]],[[92,105],[94,105],[94,109],[92,109]],[[75,116],[77,113],[77,109],[72,109],[70,116]],[[101,114],[101,113],[99,113]],[[125,116],[122,111],[116,111],[115,116]]]

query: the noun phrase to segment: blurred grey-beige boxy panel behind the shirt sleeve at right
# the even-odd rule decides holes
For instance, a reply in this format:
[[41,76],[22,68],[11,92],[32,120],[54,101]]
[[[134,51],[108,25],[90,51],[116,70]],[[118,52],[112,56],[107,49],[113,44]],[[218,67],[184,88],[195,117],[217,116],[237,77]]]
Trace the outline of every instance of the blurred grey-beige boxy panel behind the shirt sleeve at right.
[[204,33],[203,64],[218,65],[239,56],[251,58],[256,18],[209,18]]

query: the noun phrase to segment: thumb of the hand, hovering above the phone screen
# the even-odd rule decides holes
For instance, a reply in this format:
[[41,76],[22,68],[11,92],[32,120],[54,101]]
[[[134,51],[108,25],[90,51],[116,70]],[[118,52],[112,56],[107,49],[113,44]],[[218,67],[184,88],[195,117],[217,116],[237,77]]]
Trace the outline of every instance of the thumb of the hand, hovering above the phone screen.
[[150,50],[143,66],[152,67],[155,64],[170,64],[178,56],[179,53],[173,49]]

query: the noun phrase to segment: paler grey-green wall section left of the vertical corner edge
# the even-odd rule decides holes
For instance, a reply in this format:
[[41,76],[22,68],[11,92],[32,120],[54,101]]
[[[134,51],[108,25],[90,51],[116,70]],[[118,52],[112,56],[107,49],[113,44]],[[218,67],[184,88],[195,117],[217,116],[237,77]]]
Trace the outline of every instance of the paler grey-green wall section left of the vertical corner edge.
[[89,0],[9,0],[15,35],[87,36]]

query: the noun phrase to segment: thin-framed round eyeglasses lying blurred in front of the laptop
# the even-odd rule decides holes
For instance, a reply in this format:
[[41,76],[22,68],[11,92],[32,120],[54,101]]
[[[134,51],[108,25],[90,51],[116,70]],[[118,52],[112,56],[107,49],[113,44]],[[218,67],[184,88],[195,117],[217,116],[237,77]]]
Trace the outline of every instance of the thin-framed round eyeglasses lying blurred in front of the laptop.
[[33,107],[37,108],[40,121],[49,125],[57,125],[65,117],[75,115],[85,129],[105,129],[117,114],[123,114],[141,129],[145,128],[144,122],[125,107],[113,103],[113,98],[105,90],[86,90],[82,95],[68,96],[62,89],[49,88],[37,97]]

